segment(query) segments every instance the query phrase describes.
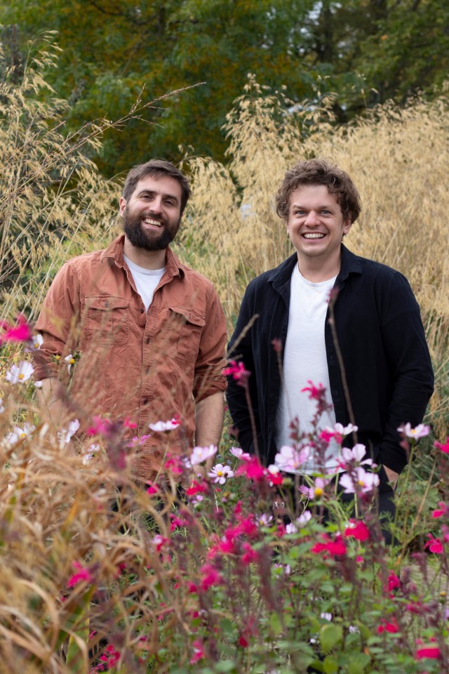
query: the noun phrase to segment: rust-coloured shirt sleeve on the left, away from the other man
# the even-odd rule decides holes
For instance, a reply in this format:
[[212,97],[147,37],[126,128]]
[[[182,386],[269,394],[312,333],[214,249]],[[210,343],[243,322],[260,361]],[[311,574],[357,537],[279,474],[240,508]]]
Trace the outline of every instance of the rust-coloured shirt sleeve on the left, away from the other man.
[[78,279],[70,263],[65,263],[48,290],[35,329],[43,343],[34,352],[36,380],[58,376],[55,356],[76,350],[76,323],[80,315]]

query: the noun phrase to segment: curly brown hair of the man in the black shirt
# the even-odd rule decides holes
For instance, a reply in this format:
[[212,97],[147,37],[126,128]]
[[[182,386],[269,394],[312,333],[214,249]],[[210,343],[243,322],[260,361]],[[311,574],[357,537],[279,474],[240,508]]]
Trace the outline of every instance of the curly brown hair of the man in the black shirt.
[[361,211],[360,196],[348,174],[326,159],[300,161],[286,175],[276,194],[276,213],[283,220],[288,219],[290,194],[300,185],[326,185],[329,194],[337,195],[337,203],[342,209],[344,220],[351,224]]

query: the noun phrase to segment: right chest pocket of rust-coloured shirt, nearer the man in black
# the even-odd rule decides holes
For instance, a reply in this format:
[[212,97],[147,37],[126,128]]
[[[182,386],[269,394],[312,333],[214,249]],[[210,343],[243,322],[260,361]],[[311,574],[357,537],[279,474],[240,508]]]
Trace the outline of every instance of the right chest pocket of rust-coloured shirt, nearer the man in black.
[[179,306],[168,307],[168,353],[188,362],[196,362],[205,324],[204,318],[192,310]]

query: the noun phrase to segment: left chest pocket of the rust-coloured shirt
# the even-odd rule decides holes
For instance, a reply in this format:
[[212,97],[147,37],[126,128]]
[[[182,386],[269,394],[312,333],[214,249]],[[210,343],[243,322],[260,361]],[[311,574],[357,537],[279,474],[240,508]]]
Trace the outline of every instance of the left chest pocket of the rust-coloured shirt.
[[129,340],[129,302],[112,295],[86,296],[86,336],[97,344],[122,345]]

